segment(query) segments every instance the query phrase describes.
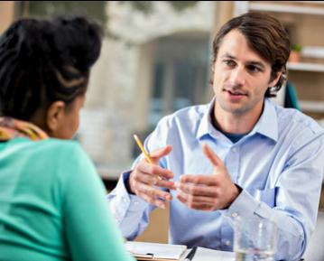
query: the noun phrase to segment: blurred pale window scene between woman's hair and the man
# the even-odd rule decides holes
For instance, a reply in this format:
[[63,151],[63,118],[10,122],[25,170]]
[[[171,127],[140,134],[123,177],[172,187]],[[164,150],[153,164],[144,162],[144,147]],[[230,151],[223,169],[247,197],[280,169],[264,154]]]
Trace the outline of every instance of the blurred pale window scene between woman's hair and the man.
[[161,117],[208,102],[217,5],[199,1],[2,1],[0,32],[20,17],[86,14],[105,29],[76,138],[108,185]]

